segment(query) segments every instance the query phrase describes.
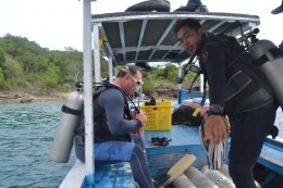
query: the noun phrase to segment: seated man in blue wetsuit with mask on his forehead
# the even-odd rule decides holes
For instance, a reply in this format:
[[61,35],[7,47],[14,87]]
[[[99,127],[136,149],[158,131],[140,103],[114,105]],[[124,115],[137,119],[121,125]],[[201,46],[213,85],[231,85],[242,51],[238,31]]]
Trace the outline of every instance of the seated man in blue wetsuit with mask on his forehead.
[[[128,65],[118,73],[114,82],[94,91],[95,162],[130,162],[133,176],[140,188],[153,188],[143,140],[131,134],[147,122],[147,116],[140,112],[133,117],[126,101],[126,97],[142,84],[139,68]],[[75,153],[85,162],[84,145],[76,145]]]

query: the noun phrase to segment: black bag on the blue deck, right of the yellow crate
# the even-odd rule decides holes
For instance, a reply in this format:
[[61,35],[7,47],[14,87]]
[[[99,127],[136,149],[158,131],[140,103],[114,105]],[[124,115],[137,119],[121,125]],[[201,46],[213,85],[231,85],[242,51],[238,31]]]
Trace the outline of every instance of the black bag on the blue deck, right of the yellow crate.
[[199,126],[201,122],[201,115],[198,113],[194,116],[196,109],[182,105],[172,113],[172,124],[196,125]]

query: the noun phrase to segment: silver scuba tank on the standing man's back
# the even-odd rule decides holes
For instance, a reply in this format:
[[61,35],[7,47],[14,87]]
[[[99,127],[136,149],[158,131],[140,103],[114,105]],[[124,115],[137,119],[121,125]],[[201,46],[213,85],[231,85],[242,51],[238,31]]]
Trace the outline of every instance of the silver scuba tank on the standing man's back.
[[264,74],[275,92],[275,99],[283,106],[283,57],[279,48],[270,40],[258,40],[249,47],[254,63]]

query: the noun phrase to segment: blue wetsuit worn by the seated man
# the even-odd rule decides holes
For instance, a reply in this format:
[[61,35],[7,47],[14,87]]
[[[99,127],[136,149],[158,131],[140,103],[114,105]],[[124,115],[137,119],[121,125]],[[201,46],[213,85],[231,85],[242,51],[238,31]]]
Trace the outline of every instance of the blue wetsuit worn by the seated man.
[[[114,88],[106,89],[99,97],[99,104],[107,114],[107,124],[112,135],[124,135],[135,130],[139,125],[136,120],[127,120],[124,116],[124,97]],[[152,178],[144,153],[144,142],[137,135],[131,135],[132,142],[100,141],[95,143],[95,162],[97,164],[113,164],[130,162],[133,176],[142,188],[153,188]],[[85,146],[76,145],[77,158],[85,162]]]

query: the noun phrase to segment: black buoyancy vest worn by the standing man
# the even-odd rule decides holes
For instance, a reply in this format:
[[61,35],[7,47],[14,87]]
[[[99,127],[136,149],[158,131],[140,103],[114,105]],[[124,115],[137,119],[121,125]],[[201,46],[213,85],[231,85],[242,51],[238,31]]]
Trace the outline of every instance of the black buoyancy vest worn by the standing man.
[[273,89],[262,72],[253,64],[254,59],[237,39],[226,35],[212,36],[205,39],[201,46],[211,41],[226,42],[231,48],[225,60],[224,113],[247,112],[270,103],[273,100]]

